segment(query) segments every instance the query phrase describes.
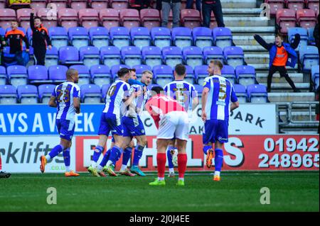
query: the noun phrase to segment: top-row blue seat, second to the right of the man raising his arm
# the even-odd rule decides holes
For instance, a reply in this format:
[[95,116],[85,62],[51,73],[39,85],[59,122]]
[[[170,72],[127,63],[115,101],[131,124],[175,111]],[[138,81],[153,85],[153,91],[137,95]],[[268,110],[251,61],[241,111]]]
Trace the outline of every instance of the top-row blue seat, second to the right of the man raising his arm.
[[76,47],[78,50],[82,46],[89,45],[89,35],[87,33],[86,28],[82,28],[82,27],[69,28],[68,33],[69,33],[70,44]]

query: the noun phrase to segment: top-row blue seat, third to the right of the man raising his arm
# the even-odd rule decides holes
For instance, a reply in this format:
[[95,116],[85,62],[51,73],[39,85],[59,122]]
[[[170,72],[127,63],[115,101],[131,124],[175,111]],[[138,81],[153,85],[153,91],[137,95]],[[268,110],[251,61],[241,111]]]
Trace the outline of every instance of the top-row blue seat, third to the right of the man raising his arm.
[[100,49],[109,45],[109,31],[105,27],[93,27],[89,29],[91,45]]

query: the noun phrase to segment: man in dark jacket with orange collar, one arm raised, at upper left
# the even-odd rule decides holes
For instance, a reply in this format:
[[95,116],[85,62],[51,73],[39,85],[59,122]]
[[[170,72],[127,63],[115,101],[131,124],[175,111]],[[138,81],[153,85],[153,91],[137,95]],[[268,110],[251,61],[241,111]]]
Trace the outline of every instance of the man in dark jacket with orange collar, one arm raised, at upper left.
[[32,47],[33,54],[36,58],[36,65],[44,65],[46,58],[47,45],[51,49],[51,41],[49,38],[48,29],[43,27],[40,17],[30,15],[30,26],[32,30]]

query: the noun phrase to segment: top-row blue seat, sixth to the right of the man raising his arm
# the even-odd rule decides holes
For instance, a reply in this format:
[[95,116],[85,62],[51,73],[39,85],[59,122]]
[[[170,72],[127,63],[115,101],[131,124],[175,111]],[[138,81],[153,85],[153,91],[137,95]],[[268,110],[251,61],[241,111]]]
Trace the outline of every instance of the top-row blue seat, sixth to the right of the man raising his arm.
[[171,46],[171,32],[169,28],[152,28],[151,29],[152,42],[156,47],[162,49],[166,46]]

